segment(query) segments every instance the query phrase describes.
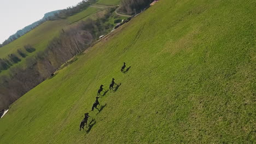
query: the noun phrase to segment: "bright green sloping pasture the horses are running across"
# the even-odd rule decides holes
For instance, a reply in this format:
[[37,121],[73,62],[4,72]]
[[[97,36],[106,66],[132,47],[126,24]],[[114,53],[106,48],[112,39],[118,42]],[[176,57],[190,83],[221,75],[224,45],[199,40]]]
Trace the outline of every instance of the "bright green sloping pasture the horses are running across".
[[255,142],[254,5],[161,0],[16,101],[0,143]]

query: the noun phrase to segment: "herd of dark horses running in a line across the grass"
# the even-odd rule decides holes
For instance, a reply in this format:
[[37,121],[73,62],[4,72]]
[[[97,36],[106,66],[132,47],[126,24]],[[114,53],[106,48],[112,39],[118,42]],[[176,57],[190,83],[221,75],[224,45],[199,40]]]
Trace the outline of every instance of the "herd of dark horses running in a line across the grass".
[[[126,65],[125,65],[126,63],[124,62],[124,65],[121,67],[121,72],[122,73],[125,73],[126,71],[128,71],[131,67],[129,67],[129,68],[126,68]],[[126,71],[125,71],[125,68],[126,68]],[[117,88],[114,88],[114,86],[116,85],[116,86],[120,86],[120,84],[118,85],[117,83],[115,83],[115,81],[114,81],[115,79],[114,78],[112,78],[112,82],[110,83],[110,85],[109,85],[109,91],[111,92],[111,91],[116,91],[117,90]],[[97,93],[97,97],[96,97],[96,100],[95,100],[95,102],[94,102],[94,104],[92,105],[92,107],[91,107],[91,111],[94,111],[94,109],[97,109],[98,111],[100,111],[98,108],[97,108],[97,106],[98,105],[100,105],[100,102],[98,101],[98,99],[100,98],[100,97],[98,97],[99,95],[101,95],[101,92],[103,92],[104,94],[107,92],[107,90],[106,89],[104,89],[103,88],[103,85],[101,85],[100,86],[100,89],[98,89],[98,93]],[[103,94],[103,95],[104,95]],[[90,116],[89,116],[89,113],[87,112],[87,113],[84,113],[84,119],[82,120],[82,122],[80,122],[80,131],[81,131],[81,129],[83,129],[84,130],[84,126],[85,126],[85,124],[86,124],[86,127],[88,127],[88,125],[87,125],[87,121],[88,121],[88,118],[89,118]]]

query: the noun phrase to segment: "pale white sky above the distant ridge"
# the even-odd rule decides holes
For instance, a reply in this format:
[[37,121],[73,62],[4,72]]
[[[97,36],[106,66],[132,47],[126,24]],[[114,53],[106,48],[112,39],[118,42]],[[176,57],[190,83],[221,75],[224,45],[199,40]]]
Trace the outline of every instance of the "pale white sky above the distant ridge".
[[0,0],[0,44],[10,35],[43,18],[45,13],[65,9],[82,0]]

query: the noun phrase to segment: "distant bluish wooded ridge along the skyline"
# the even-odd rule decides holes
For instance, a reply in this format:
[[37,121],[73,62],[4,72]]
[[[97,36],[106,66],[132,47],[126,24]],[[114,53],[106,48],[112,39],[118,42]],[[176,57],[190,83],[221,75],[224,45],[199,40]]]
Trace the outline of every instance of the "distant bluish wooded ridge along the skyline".
[[95,3],[97,0],[88,0],[88,1],[82,1],[79,2],[77,5],[73,7],[68,7],[67,9],[63,10],[56,10],[56,11],[51,11],[49,13],[46,13],[43,17],[43,19],[32,23],[29,26],[26,26],[19,31],[17,31],[15,34],[11,35],[7,40],[5,40],[2,44],[0,44],[0,47],[3,47],[4,45],[7,45],[11,43],[12,41],[20,38],[22,35],[30,32],[32,29],[38,27],[42,23],[48,20],[58,20],[58,19],[65,19],[68,16],[74,15],[79,13],[80,11],[86,9],[89,7],[89,5]]

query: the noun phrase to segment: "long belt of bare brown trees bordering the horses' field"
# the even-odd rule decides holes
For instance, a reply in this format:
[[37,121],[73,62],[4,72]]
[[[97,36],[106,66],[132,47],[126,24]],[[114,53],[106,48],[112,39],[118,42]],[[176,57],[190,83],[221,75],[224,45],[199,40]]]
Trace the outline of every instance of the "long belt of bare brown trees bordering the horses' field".
[[[0,77],[0,109],[7,108],[40,82],[50,77],[63,63],[86,50],[100,35],[112,29],[108,22],[114,9],[102,18],[86,20],[62,29],[59,37],[51,40],[47,48],[35,57],[26,58],[26,68],[11,67],[10,76]],[[30,46],[26,46],[31,48]]]

